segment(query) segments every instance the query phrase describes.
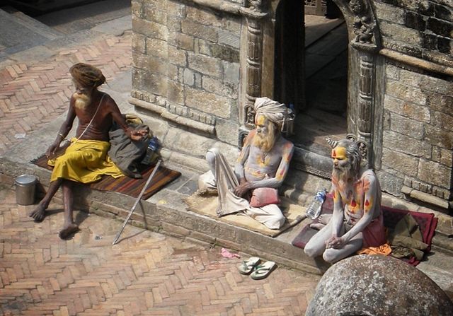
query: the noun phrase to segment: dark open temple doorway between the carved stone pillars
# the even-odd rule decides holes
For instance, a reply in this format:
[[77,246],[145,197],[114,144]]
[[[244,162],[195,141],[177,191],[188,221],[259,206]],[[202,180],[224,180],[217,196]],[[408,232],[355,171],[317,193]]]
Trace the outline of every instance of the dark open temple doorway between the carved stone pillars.
[[[280,5],[284,3],[285,1],[281,1]],[[304,54],[299,58],[304,61],[303,78],[302,83],[292,87],[299,90],[297,95],[303,96],[302,102],[301,99],[288,98],[291,93],[287,91],[282,93],[282,86],[275,85],[275,100],[287,105],[294,100],[292,104],[297,116],[294,122],[294,134],[289,139],[297,147],[324,157],[330,157],[331,153],[331,148],[326,143],[326,137],[334,140],[345,138],[348,125],[348,28],[339,10],[338,13],[338,17],[335,18],[302,16],[304,18],[304,23],[302,23],[304,47],[301,48],[304,50]],[[294,15],[294,13],[291,14]],[[284,14],[280,13],[280,16],[284,16]],[[277,25],[276,30],[278,30]],[[276,33],[276,57],[285,51],[285,47],[286,49],[296,49],[294,41],[282,42],[282,40],[297,36],[297,32],[293,29],[292,35],[285,36]],[[282,74],[286,73],[287,68],[281,64],[286,64],[287,67],[292,64],[293,72],[294,69],[297,69],[295,66],[297,62],[294,62],[294,59],[286,62],[276,59],[275,79],[286,77],[286,81],[298,82],[298,80],[291,80]],[[290,74],[290,72],[286,74]],[[286,98],[279,98],[284,95]],[[313,167],[316,168],[316,166]]]

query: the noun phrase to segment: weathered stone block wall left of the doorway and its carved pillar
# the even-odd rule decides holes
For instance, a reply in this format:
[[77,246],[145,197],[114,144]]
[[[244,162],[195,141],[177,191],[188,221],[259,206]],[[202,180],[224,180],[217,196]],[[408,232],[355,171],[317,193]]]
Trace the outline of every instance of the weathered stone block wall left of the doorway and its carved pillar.
[[[238,6],[238,1],[222,2]],[[237,133],[242,18],[208,5],[132,1],[132,98],[144,101],[133,104],[183,129],[236,144],[225,127]],[[164,101],[156,104],[156,98]]]

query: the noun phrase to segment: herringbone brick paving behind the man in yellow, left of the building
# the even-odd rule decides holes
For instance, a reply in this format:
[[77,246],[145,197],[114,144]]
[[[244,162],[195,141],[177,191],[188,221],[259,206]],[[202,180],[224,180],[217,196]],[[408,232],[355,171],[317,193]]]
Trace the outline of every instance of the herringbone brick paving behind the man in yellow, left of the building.
[[[103,36],[80,47],[60,48],[49,59],[0,68],[0,154],[67,110],[74,88],[69,67],[87,62],[107,81],[130,69],[131,33]],[[19,137],[19,138],[18,138]]]

